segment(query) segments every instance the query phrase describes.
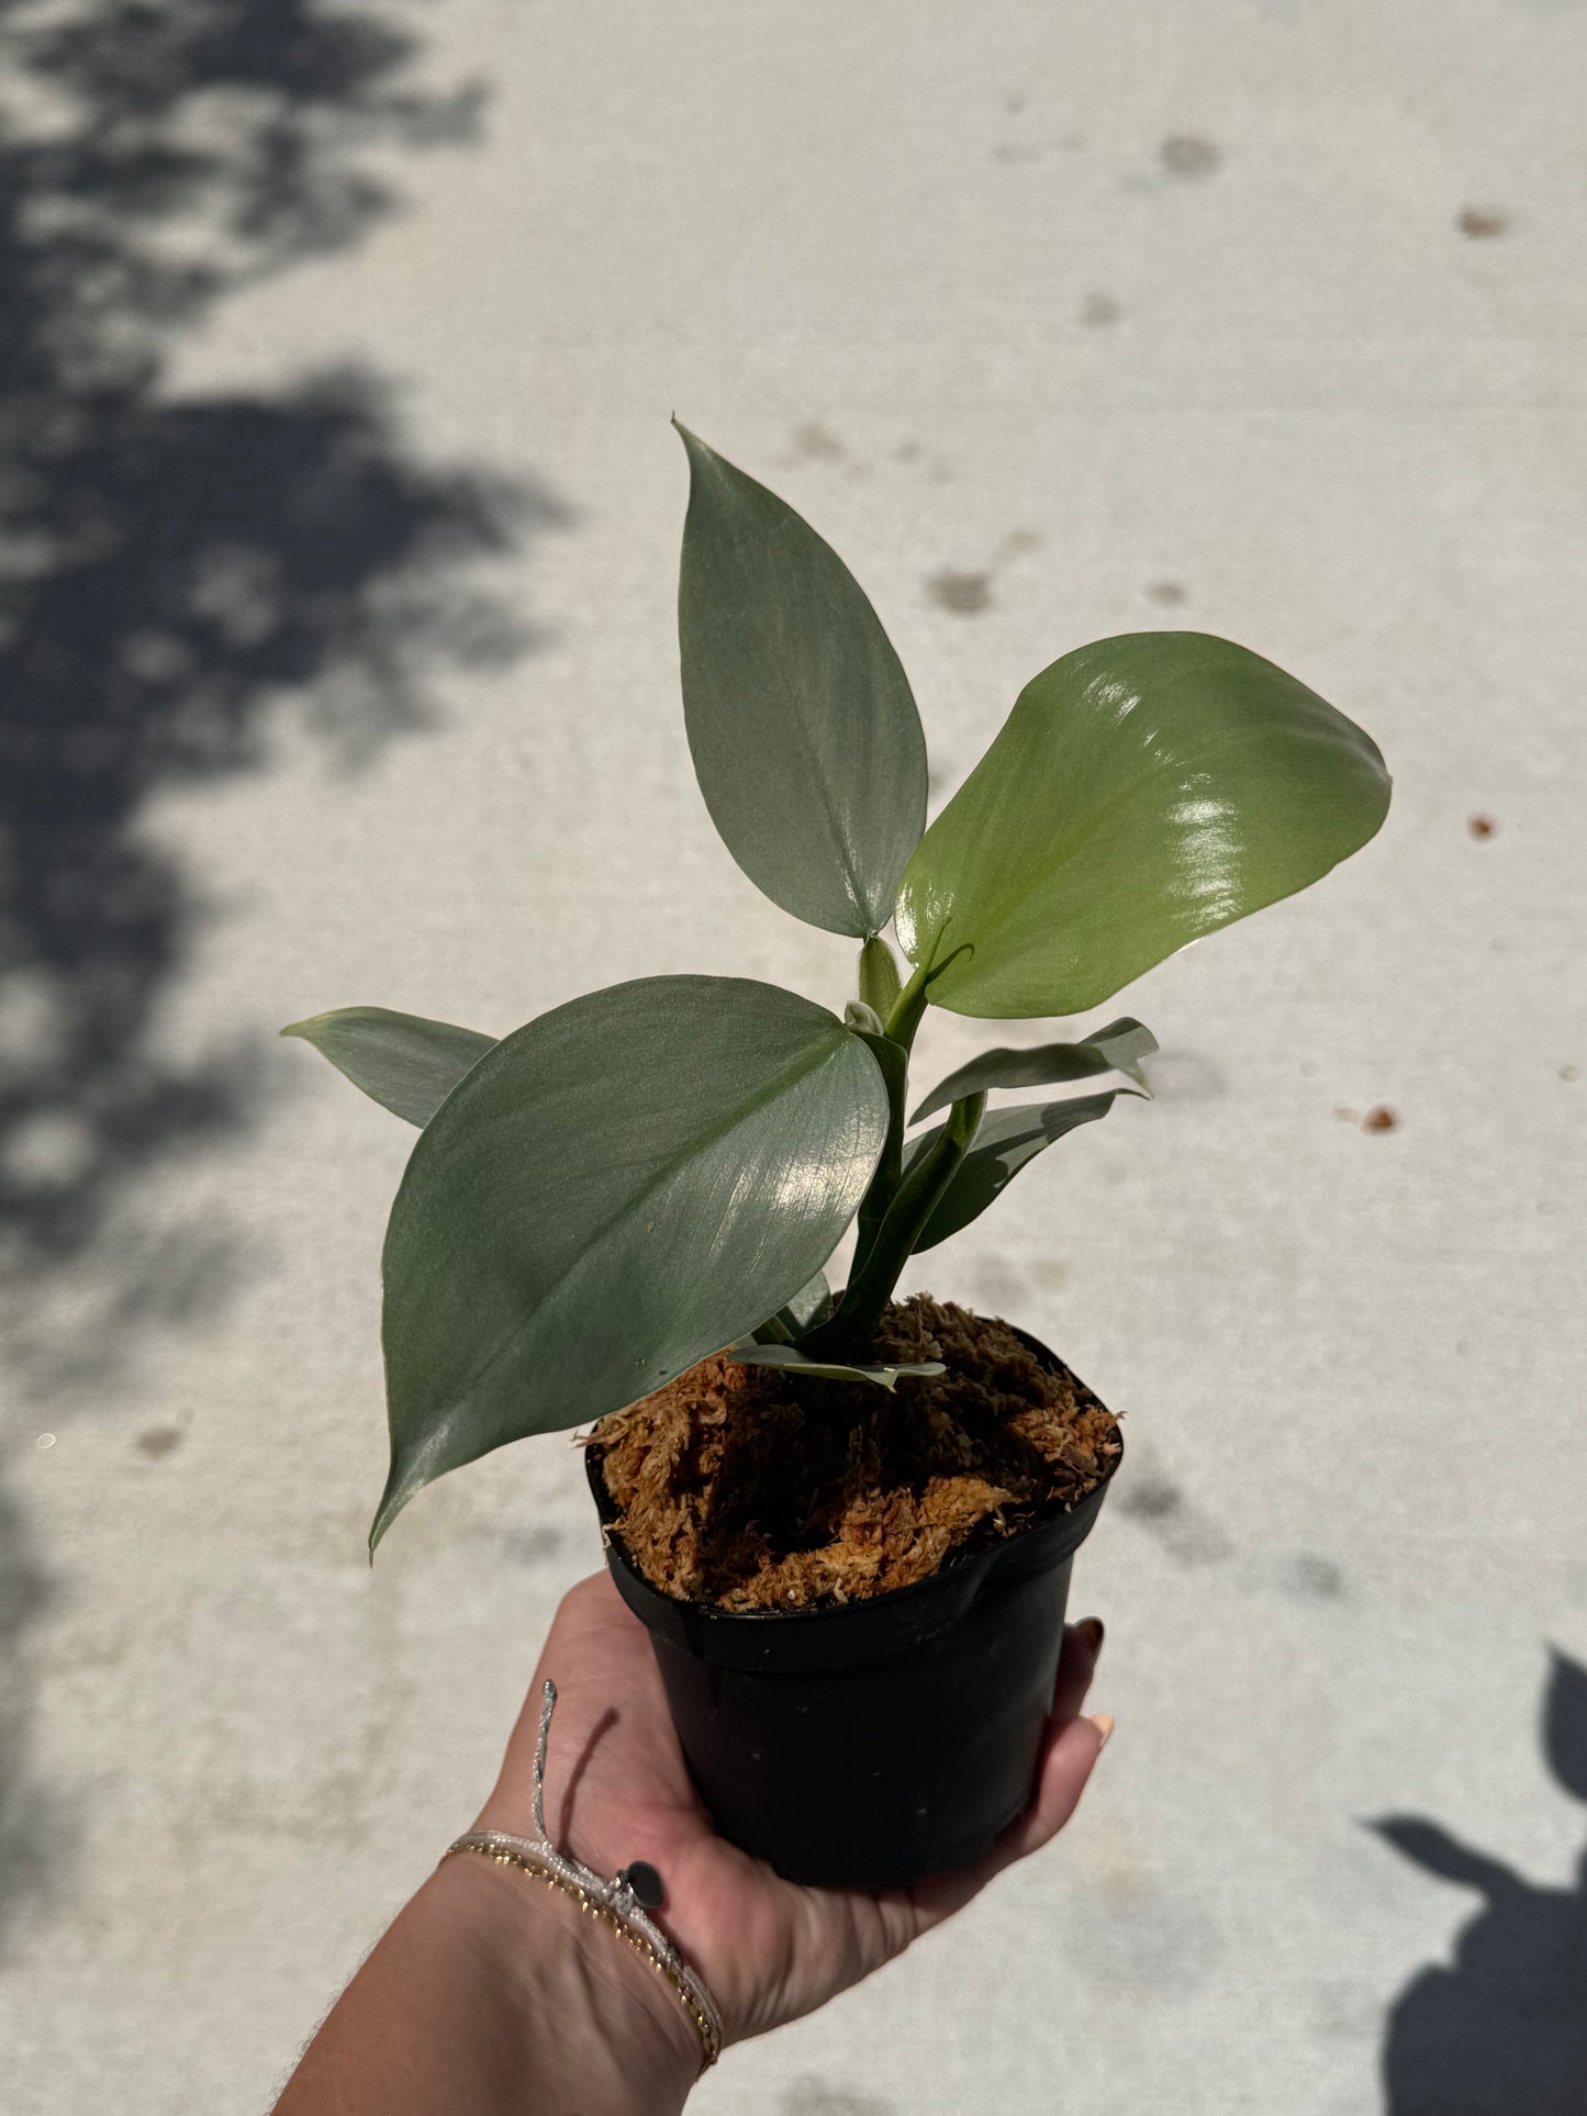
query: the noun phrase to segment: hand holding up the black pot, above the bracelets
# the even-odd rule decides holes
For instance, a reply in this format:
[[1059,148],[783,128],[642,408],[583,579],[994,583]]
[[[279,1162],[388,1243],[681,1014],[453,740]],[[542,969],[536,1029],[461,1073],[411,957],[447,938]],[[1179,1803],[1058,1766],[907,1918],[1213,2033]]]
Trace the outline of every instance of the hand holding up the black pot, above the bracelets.
[[656,1866],[667,1883],[656,1919],[711,1989],[726,2040],[741,2042],[870,1976],[1058,1835],[1113,1731],[1109,1718],[1079,1716],[1100,1642],[1094,1619],[1064,1627],[1037,1794],[984,1860],[884,1896],[802,1887],[717,1835],[688,1775],[650,1638],[599,1572],[563,1595],[478,1828],[535,1832],[540,1686],[550,1676],[552,1843],[601,1875],[633,1860]]

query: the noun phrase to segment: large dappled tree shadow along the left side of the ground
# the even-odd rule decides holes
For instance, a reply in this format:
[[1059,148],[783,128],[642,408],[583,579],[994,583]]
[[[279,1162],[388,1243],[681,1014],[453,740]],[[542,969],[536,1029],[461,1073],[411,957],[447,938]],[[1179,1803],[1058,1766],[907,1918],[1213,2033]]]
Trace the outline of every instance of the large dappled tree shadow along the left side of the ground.
[[[533,645],[474,567],[561,525],[544,491],[417,459],[364,368],[184,391],[224,296],[398,207],[389,148],[463,144],[476,85],[315,0],[0,0],[0,1276],[102,1236],[129,1179],[243,1128],[256,1054],[180,1062],[159,1018],[207,916],[157,794],[269,762],[281,715],[355,768],[446,671]],[[404,167],[411,161],[404,159]],[[212,1232],[127,1259],[118,1329],[218,1289]],[[104,1242],[95,1280],[110,1270]],[[114,1270],[110,1270],[114,1278]],[[97,1287],[97,1291],[104,1291]],[[36,1378],[38,1380],[38,1378]],[[0,1811],[25,1801],[23,1638],[47,1570],[0,1494]],[[17,1898],[0,1822],[0,1921]]]

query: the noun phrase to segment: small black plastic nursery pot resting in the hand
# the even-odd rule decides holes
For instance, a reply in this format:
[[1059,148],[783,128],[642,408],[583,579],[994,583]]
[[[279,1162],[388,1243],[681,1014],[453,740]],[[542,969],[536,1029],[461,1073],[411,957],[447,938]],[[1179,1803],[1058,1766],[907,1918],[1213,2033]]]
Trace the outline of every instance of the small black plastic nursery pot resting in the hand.
[[614,1528],[597,1447],[586,1466],[612,1576],[650,1631],[694,1782],[736,1845],[789,1881],[908,1887],[980,1858],[1024,1811],[1069,1572],[1107,1479],[914,1587],[728,1612],[643,1579]]

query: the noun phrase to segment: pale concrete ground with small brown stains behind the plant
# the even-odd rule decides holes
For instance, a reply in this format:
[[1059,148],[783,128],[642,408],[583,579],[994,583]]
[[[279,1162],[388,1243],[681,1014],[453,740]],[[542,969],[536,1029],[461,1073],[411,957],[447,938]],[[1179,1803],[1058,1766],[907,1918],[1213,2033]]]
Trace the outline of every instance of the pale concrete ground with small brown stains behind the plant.
[[366,1568],[411,1134],[277,1024],[846,992],[692,785],[677,411],[868,584],[937,796],[1143,626],[1397,774],[931,1259],[1128,1413],[1081,1818],[698,2110],[1579,2112],[1587,11],[78,19],[0,127],[0,2108],[264,2110],[599,1557],[548,1439]]

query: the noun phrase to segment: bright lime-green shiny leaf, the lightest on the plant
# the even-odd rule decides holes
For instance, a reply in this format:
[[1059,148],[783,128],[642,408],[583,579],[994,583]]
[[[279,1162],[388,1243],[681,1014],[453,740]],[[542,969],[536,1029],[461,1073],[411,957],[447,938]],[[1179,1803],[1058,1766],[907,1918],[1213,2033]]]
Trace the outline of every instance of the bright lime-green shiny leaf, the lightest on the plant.
[[1206,633],[1130,633],[1026,683],[910,859],[897,931],[954,1014],[1083,1014],[1318,880],[1388,813],[1354,722]]

